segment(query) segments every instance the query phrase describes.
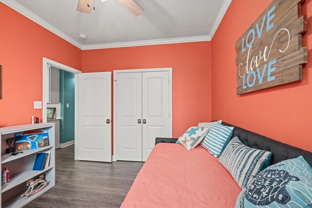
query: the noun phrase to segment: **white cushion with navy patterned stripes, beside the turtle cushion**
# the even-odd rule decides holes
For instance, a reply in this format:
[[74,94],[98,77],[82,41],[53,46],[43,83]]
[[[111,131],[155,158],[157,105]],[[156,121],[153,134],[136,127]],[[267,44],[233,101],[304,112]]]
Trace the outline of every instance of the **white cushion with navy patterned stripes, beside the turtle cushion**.
[[238,186],[243,189],[256,174],[269,166],[272,154],[271,151],[248,147],[235,136],[222,152],[219,163],[231,173]]

